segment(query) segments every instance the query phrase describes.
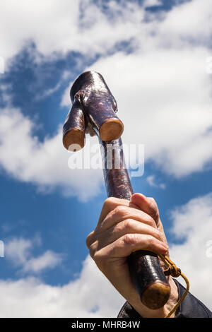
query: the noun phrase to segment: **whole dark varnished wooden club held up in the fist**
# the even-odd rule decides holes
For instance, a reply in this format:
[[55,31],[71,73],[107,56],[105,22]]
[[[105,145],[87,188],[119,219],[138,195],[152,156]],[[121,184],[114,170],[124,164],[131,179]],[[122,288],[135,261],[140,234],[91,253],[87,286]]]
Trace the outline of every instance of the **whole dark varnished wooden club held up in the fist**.
[[[64,147],[72,151],[79,150],[85,144],[86,133],[98,135],[105,166],[103,172],[107,196],[130,200],[133,189],[124,166],[120,138],[123,124],[116,115],[117,102],[112,93],[100,73],[86,71],[73,83],[70,95],[72,107],[64,124]],[[114,151],[112,153],[111,148]],[[112,155],[110,167],[108,154]],[[170,297],[170,285],[158,256],[151,251],[139,250],[132,253],[128,261],[141,302],[150,309],[163,307]]]

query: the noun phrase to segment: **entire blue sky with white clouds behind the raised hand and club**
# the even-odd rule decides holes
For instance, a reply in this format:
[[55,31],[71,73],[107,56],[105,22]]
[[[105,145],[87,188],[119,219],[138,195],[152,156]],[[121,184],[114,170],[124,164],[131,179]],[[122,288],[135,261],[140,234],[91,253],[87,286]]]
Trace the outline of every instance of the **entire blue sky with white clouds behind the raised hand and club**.
[[124,143],[144,144],[134,191],[158,202],[171,259],[212,309],[211,15],[210,0],[1,1],[2,317],[117,316],[124,303],[85,243],[102,171],[70,170],[61,143],[88,69],[117,100]]

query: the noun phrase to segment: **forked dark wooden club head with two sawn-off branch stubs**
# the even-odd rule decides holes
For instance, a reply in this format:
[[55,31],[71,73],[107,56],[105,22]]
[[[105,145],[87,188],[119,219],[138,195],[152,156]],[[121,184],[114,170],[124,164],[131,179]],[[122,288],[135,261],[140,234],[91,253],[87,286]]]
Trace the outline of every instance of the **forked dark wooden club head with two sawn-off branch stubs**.
[[104,78],[95,71],[82,73],[70,91],[72,107],[63,129],[63,143],[67,150],[80,150],[85,134],[97,134],[102,141],[112,141],[122,135],[124,126],[117,117],[117,102]]

